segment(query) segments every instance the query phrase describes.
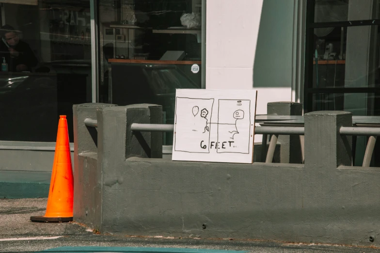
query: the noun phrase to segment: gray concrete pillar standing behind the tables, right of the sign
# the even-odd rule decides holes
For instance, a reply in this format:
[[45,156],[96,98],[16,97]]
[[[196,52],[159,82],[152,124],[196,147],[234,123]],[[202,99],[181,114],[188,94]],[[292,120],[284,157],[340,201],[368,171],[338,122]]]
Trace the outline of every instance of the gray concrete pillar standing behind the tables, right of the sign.
[[[302,116],[302,104],[296,102],[270,102],[267,113],[279,116]],[[280,163],[302,163],[300,137],[295,135],[279,135],[281,143]]]

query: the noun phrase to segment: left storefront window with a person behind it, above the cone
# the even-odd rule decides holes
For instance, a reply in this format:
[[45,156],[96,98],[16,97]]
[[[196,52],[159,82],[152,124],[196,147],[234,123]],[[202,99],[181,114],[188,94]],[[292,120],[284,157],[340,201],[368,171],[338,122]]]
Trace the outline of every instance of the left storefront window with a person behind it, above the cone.
[[[0,140],[54,142],[91,102],[90,1],[1,1]],[[15,2],[15,1],[9,1]]]

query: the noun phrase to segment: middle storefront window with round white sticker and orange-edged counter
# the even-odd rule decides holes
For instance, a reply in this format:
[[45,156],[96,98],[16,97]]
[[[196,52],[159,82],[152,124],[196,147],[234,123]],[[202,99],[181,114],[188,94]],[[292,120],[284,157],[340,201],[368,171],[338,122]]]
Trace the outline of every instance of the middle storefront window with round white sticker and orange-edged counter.
[[[202,87],[202,0],[100,0],[99,100],[163,106],[174,123],[177,88]],[[164,145],[170,145],[170,136]]]

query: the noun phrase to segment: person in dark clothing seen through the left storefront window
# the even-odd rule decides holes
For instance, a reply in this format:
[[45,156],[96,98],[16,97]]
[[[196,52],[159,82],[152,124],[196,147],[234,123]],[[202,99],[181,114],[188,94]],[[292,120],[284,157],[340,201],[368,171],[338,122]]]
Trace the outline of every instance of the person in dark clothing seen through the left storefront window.
[[[10,25],[0,28],[0,57],[4,57],[9,71],[31,71],[38,63],[28,43],[19,39],[17,31]],[[0,63],[3,59],[0,58]]]

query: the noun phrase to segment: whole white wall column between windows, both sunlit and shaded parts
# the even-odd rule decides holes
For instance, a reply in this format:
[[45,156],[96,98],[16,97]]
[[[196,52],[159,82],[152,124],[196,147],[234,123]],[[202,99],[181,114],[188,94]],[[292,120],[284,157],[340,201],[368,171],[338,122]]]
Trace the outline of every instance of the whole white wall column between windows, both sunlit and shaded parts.
[[299,101],[303,2],[207,0],[206,89],[257,89],[257,114]]

